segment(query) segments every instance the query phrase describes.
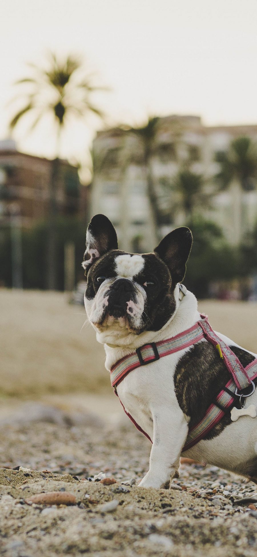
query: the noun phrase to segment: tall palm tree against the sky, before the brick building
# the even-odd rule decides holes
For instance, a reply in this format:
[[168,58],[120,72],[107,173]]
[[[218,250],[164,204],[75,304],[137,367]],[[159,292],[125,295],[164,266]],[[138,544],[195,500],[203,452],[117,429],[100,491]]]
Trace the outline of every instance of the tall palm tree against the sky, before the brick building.
[[[52,115],[56,128],[56,159],[52,164],[52,177],[49,188],[49,219],[48,219],[48,289],[56,289],[56,183],[59,169],[60,140],[63,128],[70,116],[85,120],[89,114],[103,118],[99,110],[91,101],[91,96],[96,90],[104,89],[93,82],[93,76],[83,76],[83,66],[79,58],[67,56],[63,61],[58,60],[54,53],[46,67],[28,64],[31,75],[16,81],[16,86],[29,87],[25,91],[24,104],[13,116],[9,123],[12,131],[27,114],[32,114],[33,123],[29,128],[32,131],[39,121],[47,115]],[[18,95],[21,97],[21,94]]]

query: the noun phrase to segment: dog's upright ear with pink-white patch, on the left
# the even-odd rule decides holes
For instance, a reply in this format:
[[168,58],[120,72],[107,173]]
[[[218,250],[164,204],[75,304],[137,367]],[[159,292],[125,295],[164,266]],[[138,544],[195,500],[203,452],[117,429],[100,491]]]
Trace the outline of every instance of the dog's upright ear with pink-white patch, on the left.
[[82,267],[88,271],[95,260],[117,248],[117,234],[111,221],[104,214],[96,214],[87,227],[86,251]]

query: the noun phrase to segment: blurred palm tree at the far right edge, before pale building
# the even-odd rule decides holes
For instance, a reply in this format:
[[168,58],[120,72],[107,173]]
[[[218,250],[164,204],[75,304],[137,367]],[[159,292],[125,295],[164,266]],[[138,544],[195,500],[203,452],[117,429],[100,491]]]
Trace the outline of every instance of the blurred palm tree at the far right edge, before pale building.
[[234,241],[240,243],[243,228],[243,193],[255,188],[257,157],[253,141],[248,137],[239,137],[231,142],[228,152],[216,153],[216,162],[220,163],[220,172],[216,180],[220,189],[231,187],[233,205]]

